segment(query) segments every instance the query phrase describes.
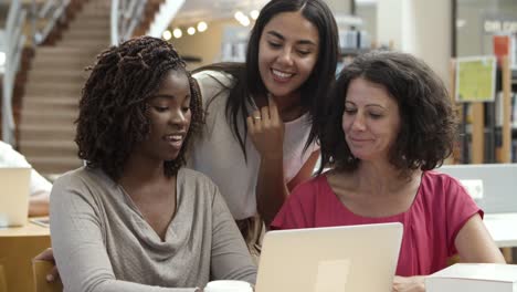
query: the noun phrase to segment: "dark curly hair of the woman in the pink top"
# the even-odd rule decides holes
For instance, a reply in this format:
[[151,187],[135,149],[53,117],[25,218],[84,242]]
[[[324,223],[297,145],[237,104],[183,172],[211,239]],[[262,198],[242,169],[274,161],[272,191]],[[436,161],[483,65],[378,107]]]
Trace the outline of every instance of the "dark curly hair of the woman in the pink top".
[[[401,128],[389,160],[401,175],[412,170],[430,170],[443,164],[455,139],[456,115],[442,80],[424,62],[398,52],[372,52],[360,55],[338,76],[326,105],[326,122],[318,125],[321,165],[345,171],[357,169],[345,140],[341,118],[350,82],[365,79],[384,86],[399,106]],[[318,121],[318,119],[316,119]],[[324,118],[319,121],[325,121]]]

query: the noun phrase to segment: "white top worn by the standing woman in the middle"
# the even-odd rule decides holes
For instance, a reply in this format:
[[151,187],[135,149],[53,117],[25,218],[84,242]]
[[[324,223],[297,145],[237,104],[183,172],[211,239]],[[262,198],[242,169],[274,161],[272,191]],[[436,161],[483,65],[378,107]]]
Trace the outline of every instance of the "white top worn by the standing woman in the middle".
[[[221,83],[231,86],[232,77],[214,71],[203,71],[194,74],[194,77],[201,88],[203,107],[207,111],[207,124],[200,140],[192,144],[188,165],[215,181],[234,219],[252,217],[256,213],[255,187],[261,159],[251,138],[247,137],[245,140],[246,163],[241,146],[226,119],[225,105],[230,91],[224,90]],[[255,105],[249,104],[247,106],[251,111],[256,108]],[[244,128],[244,123],[241,119],[239,128],[240,131]],[[319,149],[319,146],[313,143],[304,152],[309,132],[308,114],[285,123],[284,177],[286,182],[298,174],[310,154]]]

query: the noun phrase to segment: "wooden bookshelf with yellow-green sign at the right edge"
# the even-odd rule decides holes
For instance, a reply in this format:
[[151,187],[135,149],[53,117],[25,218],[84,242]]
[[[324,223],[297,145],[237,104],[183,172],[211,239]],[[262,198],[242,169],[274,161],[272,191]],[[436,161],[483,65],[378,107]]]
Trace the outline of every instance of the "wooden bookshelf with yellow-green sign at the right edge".
[[454,161],[517,161],[517,91],[509,59],[460,58],[451,66],[451,88],[461,116]]

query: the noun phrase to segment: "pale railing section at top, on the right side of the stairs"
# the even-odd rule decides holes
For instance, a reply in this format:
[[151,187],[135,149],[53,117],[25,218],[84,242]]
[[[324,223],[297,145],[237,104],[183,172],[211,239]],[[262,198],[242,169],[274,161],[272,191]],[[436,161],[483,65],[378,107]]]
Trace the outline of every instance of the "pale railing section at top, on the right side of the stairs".
[[147,0],[112,0],[112,44],[131,38],[143,18]]

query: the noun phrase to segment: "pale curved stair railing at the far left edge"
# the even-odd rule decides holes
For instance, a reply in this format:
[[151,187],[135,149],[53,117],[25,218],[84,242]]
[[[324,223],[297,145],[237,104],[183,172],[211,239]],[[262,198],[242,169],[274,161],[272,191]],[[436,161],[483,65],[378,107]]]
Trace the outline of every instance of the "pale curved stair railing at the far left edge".
[[25,35],[22,32],[25,18],[27,11],[22,8],[20,0],[11,0],[3,32],[6,64],[2,80],[2,140],[9,144],[14,144],[12,95],[20,67],[21,52],[25,43]]

